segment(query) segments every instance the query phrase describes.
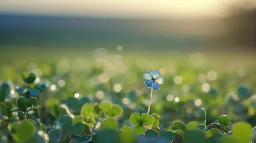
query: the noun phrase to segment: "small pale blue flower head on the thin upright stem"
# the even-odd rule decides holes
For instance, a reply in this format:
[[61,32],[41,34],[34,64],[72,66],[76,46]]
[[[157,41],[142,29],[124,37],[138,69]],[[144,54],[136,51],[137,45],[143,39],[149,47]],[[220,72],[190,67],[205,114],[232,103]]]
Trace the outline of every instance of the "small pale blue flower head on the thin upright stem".
[[152,70],[151,72],[146,71],[143,75],[145,80],[145,85],[155,91],[160,88],[160,84],[163,84],[164,78],[159,76],[160,72],[158,70]]

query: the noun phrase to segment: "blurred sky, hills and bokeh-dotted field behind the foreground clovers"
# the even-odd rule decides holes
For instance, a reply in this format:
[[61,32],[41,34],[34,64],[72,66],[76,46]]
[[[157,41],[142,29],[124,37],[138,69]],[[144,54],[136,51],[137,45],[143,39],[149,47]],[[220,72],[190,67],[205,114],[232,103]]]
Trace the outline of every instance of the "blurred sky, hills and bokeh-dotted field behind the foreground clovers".
[[152,112],[166,121],[197,120],[204,107],[209,122],[226,113],[256,125],[255,20],[254,0],[2,0],[0,82],[15,95],[20,73],[34,72],[49,84],[48,110],[83,95],[127,119],[146,111],[143,73],[158,69]]

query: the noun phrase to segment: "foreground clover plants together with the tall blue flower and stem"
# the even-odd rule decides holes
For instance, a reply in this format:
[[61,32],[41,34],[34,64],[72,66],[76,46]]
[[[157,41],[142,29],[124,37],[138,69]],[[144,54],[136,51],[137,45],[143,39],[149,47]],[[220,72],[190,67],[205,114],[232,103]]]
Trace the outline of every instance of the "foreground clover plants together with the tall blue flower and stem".
[[[246,122],[232,124],[228,115],[209,123],[206,110],[199,108],[200,120],[172,121],[162,127],[163,119],[152,113],[153,90],[164,78],[158,70],[144,73],[145,85],[151,89],[147,113],[129,115],[130,126],[123,120],[127,111],[118,104],[92,101],[88,97],[68,97],[51,108],[39,104],[47,84],[35,83],[33,73],[23,73],[25,85],[17,87],[17,98],[10,98],[7,83],[0,85],[0,142],[17,143],[254,143],[255,128]],[[244,91],[244,89],[242,89]],[[247,91],[247,90],[246,90]],[[54,104],[53,104],[54,103]],[[40,110],[41,111],[40,111]],[[126,117],[127,119],[127,117]],[[165,120],[165,119],[164,119]],[[206,122],[207,121],[207,122]],[[132,127],[132,128],[131,128]],[[230,128],[231,127],[231,128]]]

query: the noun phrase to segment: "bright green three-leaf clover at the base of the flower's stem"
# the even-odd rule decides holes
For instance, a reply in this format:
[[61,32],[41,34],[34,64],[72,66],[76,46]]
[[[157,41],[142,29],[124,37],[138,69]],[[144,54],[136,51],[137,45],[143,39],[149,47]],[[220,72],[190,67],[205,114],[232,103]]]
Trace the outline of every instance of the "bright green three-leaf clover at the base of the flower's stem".
[[142,113],[140,116],[139,113],[135,112],[129,118],[130,122],[135,125],[134,133],[143,134],[145,131],[145,126],[150,126],[155,122],[155,118],[146,113]]

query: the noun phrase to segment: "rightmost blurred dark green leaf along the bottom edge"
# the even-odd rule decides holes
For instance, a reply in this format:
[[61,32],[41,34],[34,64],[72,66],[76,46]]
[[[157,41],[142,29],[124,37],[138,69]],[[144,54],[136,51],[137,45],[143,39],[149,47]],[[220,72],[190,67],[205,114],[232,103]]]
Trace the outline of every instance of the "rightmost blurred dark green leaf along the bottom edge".
[[184,143],[205,143],[204,132],[200,129],[186,130],[184,133]]

